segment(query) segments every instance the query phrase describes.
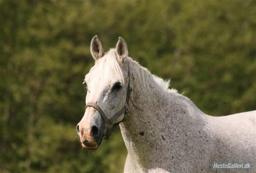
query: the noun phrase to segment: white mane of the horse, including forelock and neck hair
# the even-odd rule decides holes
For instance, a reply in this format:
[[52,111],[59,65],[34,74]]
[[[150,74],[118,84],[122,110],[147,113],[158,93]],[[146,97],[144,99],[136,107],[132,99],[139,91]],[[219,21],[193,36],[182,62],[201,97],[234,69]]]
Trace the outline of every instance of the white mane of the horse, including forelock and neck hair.
[[[105,60],[103,63],[102,67],[102,73],[104,74],[109,74],[107,73],[107,70],[111,70],[114,74],[117,75],[118,78],[120,78],[121,82],[124,82],[123,79],[123,72],[121,70],[121,67],[119,63],[117,62],[116,59],[116,49],[110,49],[104,56]],[[138,62],[134,61],[132,58],[127,57],[126,61],[128,61],[130,67],[133,67],[133,74],[137,75],[137,80],[136,82],[142,82],[146,88],[148,88],[148,79],[153,78],[153,80],[162,88],[164,91],[166,91],[168,94],[178,94],[178,91],[176,89],[169,89],[170,86],[170,79],[164,80],[156,75],[151,74],[151,72],[145,68],[142,67]]]

